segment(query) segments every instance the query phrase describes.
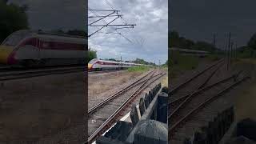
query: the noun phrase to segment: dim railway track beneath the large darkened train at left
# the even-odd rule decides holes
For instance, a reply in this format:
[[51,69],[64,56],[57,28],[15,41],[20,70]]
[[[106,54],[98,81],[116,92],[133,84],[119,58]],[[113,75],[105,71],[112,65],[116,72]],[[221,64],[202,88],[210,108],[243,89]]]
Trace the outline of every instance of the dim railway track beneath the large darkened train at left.
[[52,74],[68,74],[68,73],[75,73],[79,71],[85,71],[85,68],[83,66],[75,66],[75,67],[51,68],[51,69],[42,69],[42,70],[9,71],[9,72],[0,73],[0,81],[32,78],[32,77],[52,75]]

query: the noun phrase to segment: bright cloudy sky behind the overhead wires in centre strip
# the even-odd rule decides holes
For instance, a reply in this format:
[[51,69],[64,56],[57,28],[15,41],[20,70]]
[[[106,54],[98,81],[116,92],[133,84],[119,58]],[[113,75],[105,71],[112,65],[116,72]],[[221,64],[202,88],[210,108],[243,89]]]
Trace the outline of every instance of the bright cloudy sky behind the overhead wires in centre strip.
[[[105,27],[89,38],[89,46],[97,50],[98,58],[134,60],[143,58],[148,62],[165,63],[168,58],[168,0],[89,0],[88,8],[97,10],[121,10],[122,18],[111,24],[136,24],[134,29]],[[112,7],[113,9],[112,9]],[[106,15],[111,12],[91,11],[89,16]],[[95,18],[89,18],[88,23]],[[106,18],[111,22],[114,17]],[[93,25],[105,24],[103,21]],[[118,26],[120,28],[120,26]],[[89,26],[89,34],[100,27]],[[111,34],[110,34],[111,33]],[[122,37],[120,34],[126,38]]]

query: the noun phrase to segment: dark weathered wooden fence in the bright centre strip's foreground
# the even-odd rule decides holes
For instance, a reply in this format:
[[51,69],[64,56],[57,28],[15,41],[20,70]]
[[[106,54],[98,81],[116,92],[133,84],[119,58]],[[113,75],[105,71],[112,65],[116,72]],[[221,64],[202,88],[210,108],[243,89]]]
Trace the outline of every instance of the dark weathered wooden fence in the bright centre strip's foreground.
[[134,104],[130,111],[132,122],[119,121],[96,140],[97,144],[166,144],[167,126],[167,88],[161,84],[150,90],[139,101],[139,112]]

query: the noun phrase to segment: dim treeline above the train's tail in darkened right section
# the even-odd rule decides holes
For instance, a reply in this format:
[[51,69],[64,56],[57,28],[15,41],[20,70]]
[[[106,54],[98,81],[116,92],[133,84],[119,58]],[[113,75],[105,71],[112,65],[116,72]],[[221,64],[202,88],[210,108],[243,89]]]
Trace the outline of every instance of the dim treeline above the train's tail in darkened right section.
[[209,42],[198,41],[194,42],[190,39],[180,37],[177,31],[170,31],[168,34],[169,47],[178,47],[182,49],[190,50],[205,50],[209,52],[214,52],[217,49],[213,44]]

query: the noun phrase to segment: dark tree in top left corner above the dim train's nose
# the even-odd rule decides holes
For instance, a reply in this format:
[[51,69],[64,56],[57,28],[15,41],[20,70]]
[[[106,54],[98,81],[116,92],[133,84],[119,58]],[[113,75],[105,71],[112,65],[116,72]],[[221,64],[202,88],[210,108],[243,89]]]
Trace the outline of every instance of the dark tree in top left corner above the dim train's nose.
[[28,6],[7,4],[7,1],[0,0],[0,42],[14,31],[28,29],[27,9]]

